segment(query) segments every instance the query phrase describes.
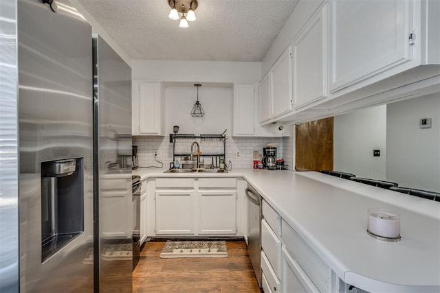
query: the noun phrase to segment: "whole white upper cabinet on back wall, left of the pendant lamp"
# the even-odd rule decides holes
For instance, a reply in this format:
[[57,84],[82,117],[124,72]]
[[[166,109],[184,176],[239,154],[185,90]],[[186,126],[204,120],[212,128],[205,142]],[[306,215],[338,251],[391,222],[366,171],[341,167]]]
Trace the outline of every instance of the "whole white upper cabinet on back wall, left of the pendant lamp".
[[164,135],[163,86],[160,82],[133,82],[132,134]]

